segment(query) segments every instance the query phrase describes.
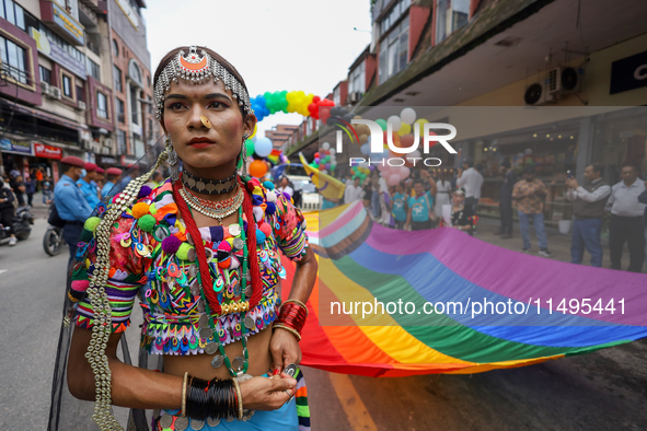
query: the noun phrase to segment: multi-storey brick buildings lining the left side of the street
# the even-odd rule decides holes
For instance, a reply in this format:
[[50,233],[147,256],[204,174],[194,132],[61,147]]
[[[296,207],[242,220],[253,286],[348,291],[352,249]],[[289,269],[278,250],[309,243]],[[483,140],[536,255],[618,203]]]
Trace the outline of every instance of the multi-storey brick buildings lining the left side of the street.
[[[157,140],[142,7],[135,0],[0,0],[3,172],[26,175],[42,166],[57,179],[55,161],[66,155],[127,166]],[[124,83],[115,88],[119,67]]]

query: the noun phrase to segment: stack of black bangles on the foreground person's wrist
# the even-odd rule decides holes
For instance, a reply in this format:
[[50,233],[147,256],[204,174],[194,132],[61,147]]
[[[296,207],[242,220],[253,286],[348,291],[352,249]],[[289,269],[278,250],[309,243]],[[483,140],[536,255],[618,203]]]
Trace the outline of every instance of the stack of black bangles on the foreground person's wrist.
[[233,381],[192,377],[186,391],[186,416],[203,421],[238,418],[239,400]]

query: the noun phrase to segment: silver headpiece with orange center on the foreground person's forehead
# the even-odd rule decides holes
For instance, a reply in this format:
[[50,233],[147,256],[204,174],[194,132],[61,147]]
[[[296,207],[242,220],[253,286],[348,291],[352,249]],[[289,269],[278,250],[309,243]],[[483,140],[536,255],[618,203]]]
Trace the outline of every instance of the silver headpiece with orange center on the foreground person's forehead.
[[229,71],[216,61],[206,51],[201,50],[198,54],[198,48],[192,46],[188,49],[188,54],[184,50],[177,53],[174,59],[160,73],[160,78],[155,84],[154,97],[155,97],[155,109],[158,120],[162,120],[162,112],[164,110],[164,98],[166,92],[171,88],[172,82],[177,82],[180,78],[186,81],[190,81],[195,84],[204,83],[209,77],[213,77],[213,82],[221,80],[224,84],[226,90],[231,90],[233,97],[239,101],[239,105],[243,106],[245,113],[254,114],[252,109],[252,103],[250,102],[250,95],[247,91],[241,84],[241,82]]

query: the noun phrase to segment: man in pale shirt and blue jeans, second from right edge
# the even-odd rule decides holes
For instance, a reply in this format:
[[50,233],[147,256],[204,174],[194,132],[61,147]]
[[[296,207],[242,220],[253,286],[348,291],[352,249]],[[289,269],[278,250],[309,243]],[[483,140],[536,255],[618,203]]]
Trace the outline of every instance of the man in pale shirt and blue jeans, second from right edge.
[[585,168],[585,183],[580,186],[575,178],[566,179],[566,199],[573,203],[573,240],[570,243],[570,263],[581,264],[585,247],[591,255],[591,266],[602,266],[602,217],[611,187],[602,179],[603,167],[594,163]]

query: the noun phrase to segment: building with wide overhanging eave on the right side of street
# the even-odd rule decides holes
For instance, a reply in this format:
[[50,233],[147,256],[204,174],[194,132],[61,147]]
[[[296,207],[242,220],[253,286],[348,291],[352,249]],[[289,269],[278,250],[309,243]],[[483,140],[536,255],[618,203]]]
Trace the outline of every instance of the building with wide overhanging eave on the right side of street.
[[[546,218],[569,218],[567,171],[581,180],[584,168],[599,162],[612,183],[625,163],[647,173],[646,15],[640,0],[612,7],[602,0],[376,0],[371,44],[340,77],[348,91],[339,103],[357,113],[389,106],[397,114],[412,106],[418,118],[450,124],[470,108],[492,107],[499,117],[477,109],[472,123],[494,124],[457,127],[458,154],[432,149],[429,155],[443,168],[467,156],[481,163],[482,196],[492,208],[500,164],[531,164],[551,184]],[[442,107],[464,109],[448,114]],[[497,107],[518,107],[510,118],[535,108],[551,115],[513,123]],[[285,150],[292,155],[317,148],[315,135]],[[361,156],[355,150],[345,156]],[[345,156],[338,164],[347,163]]]

